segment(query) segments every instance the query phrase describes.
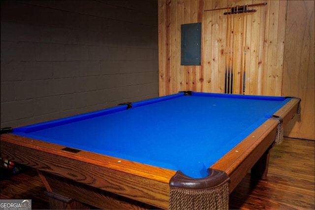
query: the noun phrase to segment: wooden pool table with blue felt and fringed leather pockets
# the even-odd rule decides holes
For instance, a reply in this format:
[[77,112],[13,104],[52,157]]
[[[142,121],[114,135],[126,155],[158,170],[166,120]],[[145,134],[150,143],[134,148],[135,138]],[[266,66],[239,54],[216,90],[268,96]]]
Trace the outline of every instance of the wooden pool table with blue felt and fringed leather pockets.
[[299,113],[295,97],[183,91],[1,130],[3,158],[38,170],[52,209],[227,209]]

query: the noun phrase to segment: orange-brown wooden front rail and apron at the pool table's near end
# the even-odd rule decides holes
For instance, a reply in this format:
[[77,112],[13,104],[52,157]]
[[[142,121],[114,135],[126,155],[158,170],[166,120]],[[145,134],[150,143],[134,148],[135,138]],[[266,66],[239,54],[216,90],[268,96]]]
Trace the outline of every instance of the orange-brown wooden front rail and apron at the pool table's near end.
[[[74,154],[63,151],[62,148],[58,145],[25,137],[20,138],[12,134],[1,135],[1,156],[3,157],[32,168],[167,209],[168,182],[176,171],[87,151]],[[63,188],[49,189],[48,185],[46,188],[48,191],[66,190]],[[86,203],[89,204],[90,202]]]

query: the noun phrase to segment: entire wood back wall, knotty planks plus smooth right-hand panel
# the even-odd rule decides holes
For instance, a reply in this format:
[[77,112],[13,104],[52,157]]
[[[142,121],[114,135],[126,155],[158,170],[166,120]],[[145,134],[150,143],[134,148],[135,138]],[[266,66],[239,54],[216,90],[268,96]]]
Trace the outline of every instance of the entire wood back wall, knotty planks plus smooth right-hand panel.
[[[263,2],[267,5],[255,7],[256,12],[234,16],[233,33],[233,27],[226,30],[228,18],[232,18],[223,15],[227,10],[204,11]],[[197,22],[202,23],[201,65],[181,66],[181,25]],[[158,0],[158,23],[160,96],[182,90],[223,93],[227,37],[235,35],[233,93],[243,94],[245,69],[245,94],[302,98],[301,119],[305,122],[295,120],[286,129],[293,130],[285,134],[315,139],[313,0]],[[292,49],[295,45],[300,51]]]

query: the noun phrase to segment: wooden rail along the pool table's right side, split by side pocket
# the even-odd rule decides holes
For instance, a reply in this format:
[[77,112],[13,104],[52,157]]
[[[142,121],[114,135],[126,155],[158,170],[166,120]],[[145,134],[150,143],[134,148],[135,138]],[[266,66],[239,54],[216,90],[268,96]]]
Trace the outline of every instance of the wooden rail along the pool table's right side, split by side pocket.
[[[274,115],[282,117],[285,126],[297,113],[299,103],[300,99],[292,98]],[[230,192],[234,190],[256,162],[264,164],[263,166],[255,166],[260,168],[260,170],[263,168],[256,176],[265,178],[268,172],[269,150],[276,139],[278,123],[277,120],[266,120],[259,129],[252,132],[251,135],[211,166],[213,169],[225,171],[230,177]]]

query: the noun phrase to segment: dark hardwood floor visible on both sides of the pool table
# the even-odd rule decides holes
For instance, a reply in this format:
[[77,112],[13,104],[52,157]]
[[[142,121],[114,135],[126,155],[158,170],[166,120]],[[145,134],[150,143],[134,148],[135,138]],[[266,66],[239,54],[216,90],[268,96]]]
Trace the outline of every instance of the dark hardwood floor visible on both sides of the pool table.
[[[230,195],[230,209],[315,209],[315,141],[284,138],[271,150],[265,180],[248,174]],[[45,187],[35,170],[1,174],[0,199],[32,199],[32,209],[49,209]]]

